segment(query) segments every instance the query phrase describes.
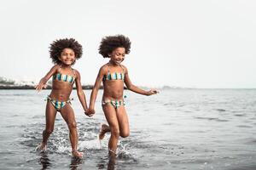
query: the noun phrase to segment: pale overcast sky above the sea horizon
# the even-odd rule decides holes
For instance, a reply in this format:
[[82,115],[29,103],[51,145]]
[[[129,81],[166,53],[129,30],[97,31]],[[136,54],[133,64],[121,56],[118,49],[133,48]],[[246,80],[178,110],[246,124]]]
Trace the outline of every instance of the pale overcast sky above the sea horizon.
[[38,82],[53,66],[49,44],[75,38],[73,68],[94,84],[108,62],[102,37],[123,34],[123,65],[137,86],[256,88],[256,2],[247,0],[3,0],[0,77]]

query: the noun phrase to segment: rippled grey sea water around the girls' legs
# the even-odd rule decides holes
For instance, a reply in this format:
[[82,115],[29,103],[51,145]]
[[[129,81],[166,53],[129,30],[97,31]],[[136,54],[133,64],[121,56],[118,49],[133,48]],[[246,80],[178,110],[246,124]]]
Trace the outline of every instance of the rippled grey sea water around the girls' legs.
[[[87,101],[90,90],[84,91]],[[0,90],[0,169],[256,169],[256,89],[163,89],[143,96],[125,91],[131,135],[119,139],[108,159],[109,134],[102,91],[96,115],[84,116],[76,92],[73,109],[83,160],[70,154],[68,128],[60,114],[48,151],[37,153],[49,90]]]

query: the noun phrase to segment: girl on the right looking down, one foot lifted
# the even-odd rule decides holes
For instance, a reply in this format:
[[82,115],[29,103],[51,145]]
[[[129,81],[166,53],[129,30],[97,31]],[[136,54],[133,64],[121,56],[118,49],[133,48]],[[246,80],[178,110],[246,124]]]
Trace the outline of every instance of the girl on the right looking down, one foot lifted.
[[130,133],[128,116],[125,111],[125,101],[123,99],[124,82],[128,89],[137,94],[157,94],[156,90],[144,91],[131,83],[127,68],[125,65],[121,65],[125,59],[125,54],[130,53],[130,48],[131,42],[129,38],[122,35],[104,37],[102,39],[99,53],[104,58],[110,58],[110,60],[107,64],[102,65],[90,95],[90,108],[87,114],[95,113],[96,95],[103,82],[102,109],[108,125],[102,125],[99,138],[103,139],[105,133],[111,132],[108,150],[112,156],[115,155],[119,136],[125,138]]

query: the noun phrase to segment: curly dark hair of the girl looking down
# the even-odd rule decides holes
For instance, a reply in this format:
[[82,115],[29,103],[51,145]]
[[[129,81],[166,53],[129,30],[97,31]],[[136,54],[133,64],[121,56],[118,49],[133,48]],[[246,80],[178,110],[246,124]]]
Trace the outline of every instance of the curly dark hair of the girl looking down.
[[125,48],[125,54],[129,54],[131,48],[130,39],[123,35],[103,37],[99,47],[99,54],[102,54],[104,58],[109,58],[108,54],[111,54],[116,48]]

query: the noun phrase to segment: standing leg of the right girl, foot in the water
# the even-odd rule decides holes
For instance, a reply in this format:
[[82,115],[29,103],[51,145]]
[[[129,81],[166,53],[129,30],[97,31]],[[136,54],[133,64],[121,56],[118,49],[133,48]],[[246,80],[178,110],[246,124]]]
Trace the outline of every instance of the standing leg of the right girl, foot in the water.
[[119,122],[116,116],[116,111],[112,105],[102,105],[105,117],[108,121],[111,136],[108,141],[108,150],[115,153],[117,149],[117,143],[119,139]]

